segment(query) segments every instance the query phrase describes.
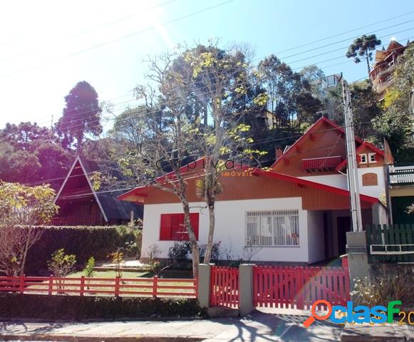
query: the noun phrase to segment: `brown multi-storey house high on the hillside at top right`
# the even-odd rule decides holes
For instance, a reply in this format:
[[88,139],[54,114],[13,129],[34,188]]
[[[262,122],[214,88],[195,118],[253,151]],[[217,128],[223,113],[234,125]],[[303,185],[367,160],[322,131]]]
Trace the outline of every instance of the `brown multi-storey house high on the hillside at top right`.
[[385,98],[386,90],[390,87],[393,80],[393,72],[398,64],[398,56],[402,55],[405,49],[410,45],[402,45],[398,41],[392,40],[385,50],[376,51],[376,63],[374,64],[369,77],[373,83],[373,88],[378,93],[378,99]]

